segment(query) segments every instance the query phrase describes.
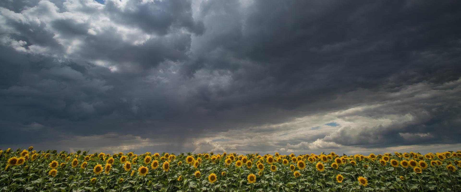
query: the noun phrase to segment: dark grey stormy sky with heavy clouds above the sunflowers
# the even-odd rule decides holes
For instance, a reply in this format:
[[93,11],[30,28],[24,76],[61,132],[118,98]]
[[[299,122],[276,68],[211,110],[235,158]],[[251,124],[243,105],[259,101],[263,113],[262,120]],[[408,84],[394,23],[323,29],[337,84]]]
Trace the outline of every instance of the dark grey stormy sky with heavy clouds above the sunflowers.
[[461,150],[459,7],[1,0],[0,148]]

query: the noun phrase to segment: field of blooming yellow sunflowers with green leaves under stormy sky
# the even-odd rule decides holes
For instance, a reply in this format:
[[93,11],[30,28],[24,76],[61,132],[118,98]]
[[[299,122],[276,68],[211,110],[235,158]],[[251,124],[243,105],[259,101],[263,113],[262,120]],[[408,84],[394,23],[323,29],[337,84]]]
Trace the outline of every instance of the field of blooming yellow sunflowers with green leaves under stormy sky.
[[104,154],[0,150],[4,192],[461,191],[461,151]]

